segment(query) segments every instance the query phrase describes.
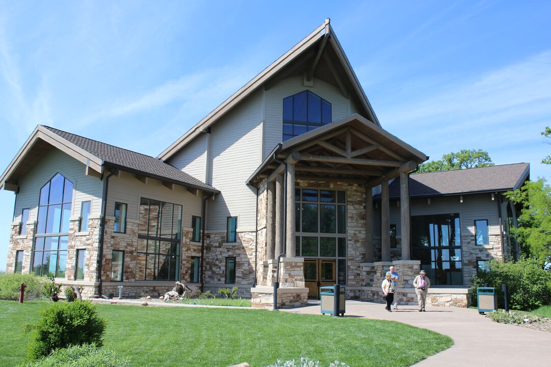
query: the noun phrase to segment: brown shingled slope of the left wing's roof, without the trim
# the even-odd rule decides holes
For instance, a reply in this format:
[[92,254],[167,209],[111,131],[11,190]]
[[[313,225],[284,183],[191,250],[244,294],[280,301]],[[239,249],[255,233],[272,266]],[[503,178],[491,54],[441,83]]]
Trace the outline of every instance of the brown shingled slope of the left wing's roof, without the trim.
[[108,166],[120,167],[123,170],[126,168],[132,171],[141,172],[145,176],[165,179],[188,187],[218,192],[218,190],[212,186],[152,156],[101,143],[101,141],[84,138],[83,136],[67,133],[48,126],[44,126],[44,128],[61,136],[61,138],[78,146],[80,149],[89,152],[91,155],[100,158]]

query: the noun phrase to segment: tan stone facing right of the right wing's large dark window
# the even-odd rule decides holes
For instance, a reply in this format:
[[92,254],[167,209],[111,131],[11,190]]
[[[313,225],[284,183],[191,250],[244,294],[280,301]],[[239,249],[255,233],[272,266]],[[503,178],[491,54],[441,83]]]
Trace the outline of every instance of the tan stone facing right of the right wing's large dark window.
[[474,235],[462,235],[463,284],[466,287],[473,285],[473,275],[477,273],[477,260],[503,260],[501,255],[501,236],[490,234],[489,245],[474,244]]

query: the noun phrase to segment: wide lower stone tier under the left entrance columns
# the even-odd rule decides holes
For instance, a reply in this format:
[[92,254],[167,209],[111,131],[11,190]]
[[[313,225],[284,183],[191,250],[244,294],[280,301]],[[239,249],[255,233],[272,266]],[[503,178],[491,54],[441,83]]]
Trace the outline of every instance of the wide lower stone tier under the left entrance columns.
[[[273,287],[251,288],[251,306],[255,308],[273,308]],[[308,302],[308,288],[284,287],[278,288],[278,308],[290,308],[304,306]]]

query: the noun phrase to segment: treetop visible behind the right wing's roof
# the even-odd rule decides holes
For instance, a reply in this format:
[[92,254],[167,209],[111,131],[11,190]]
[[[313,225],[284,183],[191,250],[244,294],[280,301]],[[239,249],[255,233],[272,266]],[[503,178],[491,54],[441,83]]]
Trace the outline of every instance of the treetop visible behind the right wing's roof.
[[452,171],[453,169],[493,166],[490,155],[482,149],[462,149],[442,156],[441,160],[425,162],[419,172]]

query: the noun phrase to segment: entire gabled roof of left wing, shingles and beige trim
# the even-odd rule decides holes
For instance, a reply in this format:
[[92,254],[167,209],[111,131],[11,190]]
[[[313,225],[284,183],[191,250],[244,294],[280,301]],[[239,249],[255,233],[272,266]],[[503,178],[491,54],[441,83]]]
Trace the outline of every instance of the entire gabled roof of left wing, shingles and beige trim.
[[[98,173],[103,172],[104,166],[109,166],[190,188],[218,192],[212,186],[159,161],[155,157],[101,143],[101,141],[84,138],[80,135],[67,133],[44,125],[36,127],[6,171],[2,174],[2,177],[0,177],[0,188],[6,188],[7,183],[16,184],[17,177],[24,174],[40,157],[40,152],[36,150],[44,151],[48,148],[48,145],[57,147],[84,163],[87,168],[91,168]],[[28,160],[26,165],[21,165],[21,162],[24,160]]]

